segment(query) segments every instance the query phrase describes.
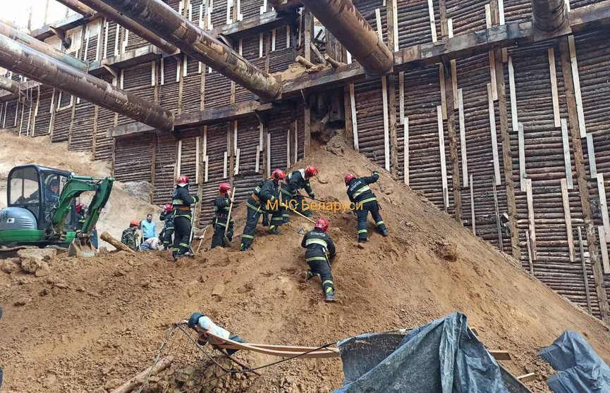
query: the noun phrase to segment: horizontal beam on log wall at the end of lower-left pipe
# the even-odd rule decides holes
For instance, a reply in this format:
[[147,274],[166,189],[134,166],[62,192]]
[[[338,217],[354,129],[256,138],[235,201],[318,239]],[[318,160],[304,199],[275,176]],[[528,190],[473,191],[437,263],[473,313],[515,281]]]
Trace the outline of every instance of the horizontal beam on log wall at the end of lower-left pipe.
[[[258,101],[246,101],[240,104],[208,108],[193,113],[183,113],[180,116],[176,116],[176,120],[174,121],[174,132],[177,132],[179,135],[181,132],[189,132],[193,127],[209,123],[236,120],[245,116],[252,116],[255,111],[270,111],[272,108],[274,108],[274,105],[271,103],[260,104]],[[106,135],[111,138],[122,138],[140,134],[142,132],[156,131],[155,128],[142,123],[130,123],[113,127],[106,132]]]

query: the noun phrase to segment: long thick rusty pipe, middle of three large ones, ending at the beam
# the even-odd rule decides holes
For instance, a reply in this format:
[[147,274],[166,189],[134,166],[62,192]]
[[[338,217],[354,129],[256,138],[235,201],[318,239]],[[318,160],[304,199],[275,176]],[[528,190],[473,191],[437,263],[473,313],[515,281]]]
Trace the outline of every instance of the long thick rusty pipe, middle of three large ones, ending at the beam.
[[[87,4],[89,1],[86,0]],[[96,0],[98,1],[98,0]],[[208,35],[190,20],[159,0],[104,0],[140,25],[178,46],[183,53],[205,63],[262,99],[276,99],[281,83],[252,66],[236,51]]]

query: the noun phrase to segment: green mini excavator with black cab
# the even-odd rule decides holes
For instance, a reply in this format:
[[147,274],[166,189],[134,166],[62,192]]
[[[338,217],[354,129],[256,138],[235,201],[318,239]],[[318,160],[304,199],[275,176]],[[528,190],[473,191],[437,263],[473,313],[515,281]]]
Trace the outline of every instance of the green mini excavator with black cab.
[[[112,177],[76,176],[37,165],[8,173],[8,207],[0,210],[0,251],[25,246],[68,247],[70,256],[94,256],[92,231],[112,190]],[[77,230],[75,198],[94,192],[85,222]]]

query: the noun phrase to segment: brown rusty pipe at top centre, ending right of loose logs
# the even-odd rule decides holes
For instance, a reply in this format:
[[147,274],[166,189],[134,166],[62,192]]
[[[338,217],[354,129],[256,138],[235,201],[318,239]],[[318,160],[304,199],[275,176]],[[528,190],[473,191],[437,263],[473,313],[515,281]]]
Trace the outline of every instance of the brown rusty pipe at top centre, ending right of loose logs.
[[350,0],[303,0],[303,4],[370,75],[392,68],[392,51]]

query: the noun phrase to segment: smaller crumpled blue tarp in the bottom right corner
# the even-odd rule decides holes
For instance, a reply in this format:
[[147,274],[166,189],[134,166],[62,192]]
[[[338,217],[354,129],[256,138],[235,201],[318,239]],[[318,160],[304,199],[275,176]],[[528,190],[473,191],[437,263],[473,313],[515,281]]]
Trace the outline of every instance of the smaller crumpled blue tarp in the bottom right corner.
[[547,381],[553,392],[610,392],[610,368],[577,332],[563,332],[538,356],[559,371]]

